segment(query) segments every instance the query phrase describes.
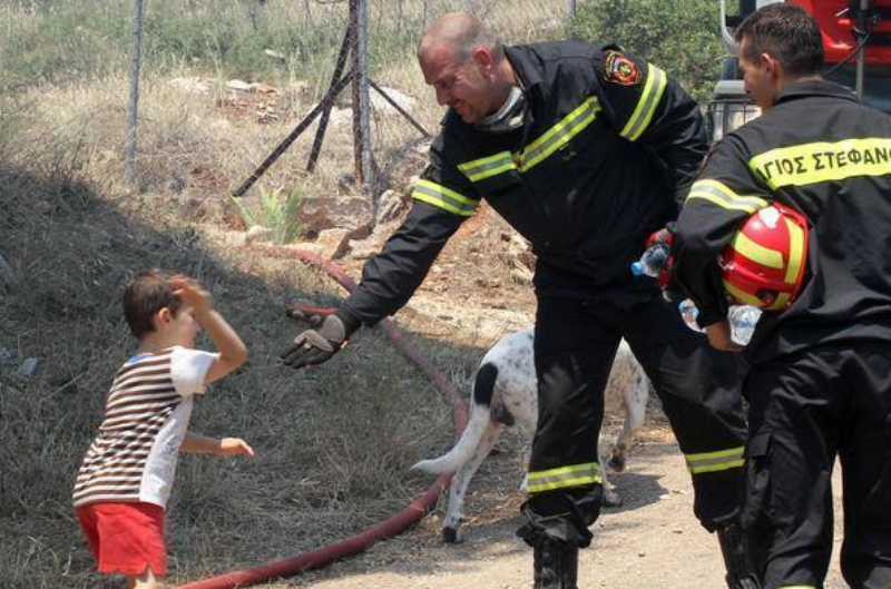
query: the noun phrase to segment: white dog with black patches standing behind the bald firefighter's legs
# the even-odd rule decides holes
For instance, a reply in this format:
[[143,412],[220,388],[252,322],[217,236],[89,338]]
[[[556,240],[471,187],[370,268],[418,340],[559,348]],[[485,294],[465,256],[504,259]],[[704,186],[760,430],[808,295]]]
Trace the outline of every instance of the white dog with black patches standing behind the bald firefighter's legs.
[[[532,355],[533,331],[503,337],[483,356],[471,396],[470,420],[454,448],[438,459],[422,460],[412,467],[432,473],[453,472],[449,508],[442,524],[442,539],[459,541],[462,505],[470,479],[489,455],[505,428],[519,424],[532,435],[538,421],[538,380]],[[610,450],[607,464],[625,468],[635,432],[644,423],[649,381],[644,369],[623,340],[613,363],[607,395],[624,400],[625,425]],[[599,451],[598,451],[599,455]],[[600,461],[603,464],[603,460]],[[525,485],[525,481],[523,481]],[[604,503],[620,505],[621,499],[604,472]]]

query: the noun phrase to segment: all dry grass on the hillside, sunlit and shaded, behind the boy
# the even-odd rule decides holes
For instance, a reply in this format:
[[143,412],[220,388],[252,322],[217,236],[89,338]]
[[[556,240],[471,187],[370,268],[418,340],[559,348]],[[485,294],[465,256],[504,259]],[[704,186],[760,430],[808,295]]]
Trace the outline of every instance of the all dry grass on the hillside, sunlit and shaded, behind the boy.
[[[275,10],[286,4],[293,6],[267,3]],[[464,8],[446,2],[435,10],[459,4]],[[37,30],[40,6],[0,2],[0,35]],[[404,6],[415,10],[415,20],[434,16],[418,11],[421,0]],[[536,14],[527,7],[525,17]],[[441,110],[411,58],[417,31],[403,35],[403,53],[381,61],[375,80],[417,98],[417,118],[433,130]],[[0,71],[8,57],[0,51]],[[238,225],[225,196],[311,108],[330,70],[321,69],[309,91],[292,84],[298,77],[292,73],[277,80],[280,118],[257,125],[253,107],[233,102],[223,89],[222,76],[210,72],[208,95],[189,95],[169,79],[208,72],[148,68],[135,189],[121,181],[127,84],[120,67],[14,95],[0,91],[0,255],[18,278],[12,287],[0,283],[3,587],[118,586],[91,572],[69,493],[112,374],[133,350],[119,292],[150,266],[199,278],[247,343],[248,365],[209,391],[193,425],[208,435],[243,435],[258,454],[249,462],[184,457],[169,505],[174,581],[341,540],[401,509],[431,482],[407,469],[451,443],[451,413],[440,393],[371,331],[322,370],[280,367],[278,351],[301,328],[284,318],[285,304],[341,293],[296,262],[233,247],[221,232]],[[385,181],[401,186],[420,171],[418,158],[405,156],[418,138],[413,128],[376,116],[372,130]],[[307,135],[263,181],[334,194],[337,177],[352,170],[351,140],[349,126],[332,127],[317,173],[307,176]],[[467,391],[482,354],[477,340],[428,340],[419,334],[449,327],[424,315],[407,317],[415,332],[409,337]],[[32,379],[17,374],[29,357],[40,362]]]

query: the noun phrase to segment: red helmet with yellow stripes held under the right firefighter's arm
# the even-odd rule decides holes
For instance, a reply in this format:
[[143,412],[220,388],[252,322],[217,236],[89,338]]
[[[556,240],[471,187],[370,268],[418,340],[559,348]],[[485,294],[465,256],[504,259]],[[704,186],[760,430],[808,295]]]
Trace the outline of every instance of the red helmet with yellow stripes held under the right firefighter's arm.
[[718,256],[738,303],[781,311],[795,300],[807,262],[807,222],[779,203],[754,213]]

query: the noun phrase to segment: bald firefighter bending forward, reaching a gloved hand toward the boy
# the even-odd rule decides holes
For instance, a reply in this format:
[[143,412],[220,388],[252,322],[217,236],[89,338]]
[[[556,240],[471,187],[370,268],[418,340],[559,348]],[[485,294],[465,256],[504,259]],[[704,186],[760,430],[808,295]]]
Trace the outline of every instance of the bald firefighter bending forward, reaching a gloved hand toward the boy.
[[711,350],[655,281],[629,271],[647,236],[676,217],[705,154],[696,104],[617,48],[503,48],[467,13],[438,20],[418,53],[450,109],[414,205],[343,308],[283,360],[323,362],[360,324],[395,313],[486,197],[538,256],[539,421],[519,531],[535,548],[536,587],[576,587],[578,548],[600,508],[604,386],[623,336],[659,393],[732,587],[755,587],[745,585],[734,526],[745,438],[736,357]]

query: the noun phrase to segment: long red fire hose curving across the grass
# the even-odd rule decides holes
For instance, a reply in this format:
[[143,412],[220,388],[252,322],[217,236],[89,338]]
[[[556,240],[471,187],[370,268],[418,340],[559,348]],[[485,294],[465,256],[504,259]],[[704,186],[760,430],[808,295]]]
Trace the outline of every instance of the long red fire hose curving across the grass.
[[[288,257],[297,258],[306,264],[320,268],[322,272],[330,275],[341,286],[349,292],[355,289],[355,282],[350,278],[341,268],[331,262],[323,261],[319,256],[309,252],[301,252],[298,249],[291,249],[285,247],[265,247],[263,252],[270,257]],[[307,310],[310,307],[306,307]],[[326,310],[313,310],[326,311]],[[390,320],[384,320],[381,323],[384,333],[390,340],[399,347],[399,350],[427,374],[430,380],[442,391],[446,399],[452,405],[452,419],[454,420],[456,438],[460,435],[467,425],[467,409],[461,401],[461,396],[449,383],[446,376],[437,370],[431,362],[424,357],[418,350],[402,340],[402,334]],[[405,531],[409,527],[413,526],[427,512],[433,509],[437,504],[439,495],[449,488],[451,475],[442,474],[437,481],[421,495],[414,500],[408,508],[382,521],[364,531],[347,538],[341,542],[324,546],[311,552],[296,554],[282,560],[267,562],[249,569],[237,570],[212,577],[200,581],[182,585],[178,589],[229,589],[234,587],[247,587],[276,579],[281,577],[291,577],[303,571],[320,569],[331,562],[358,554],[364,551],[373,543],[392,538]]]

